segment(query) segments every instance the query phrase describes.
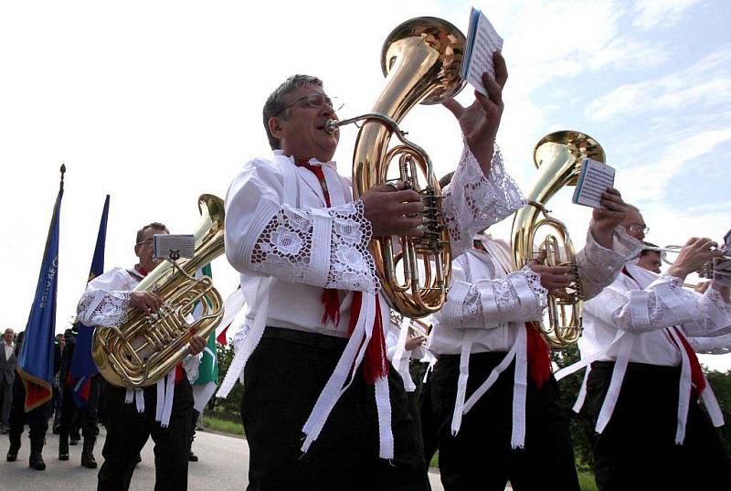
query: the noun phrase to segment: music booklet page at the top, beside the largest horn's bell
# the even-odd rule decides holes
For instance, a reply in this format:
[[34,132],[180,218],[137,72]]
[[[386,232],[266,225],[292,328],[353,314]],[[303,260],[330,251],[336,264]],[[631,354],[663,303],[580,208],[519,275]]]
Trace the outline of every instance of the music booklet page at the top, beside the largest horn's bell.
[[472,7],[462,78],[467,80],[477,91],[487,95],[487,90],[482,83],[482,73],[487,71],[493,77],[495,76],[493,53],[502,49],[503,37],[497,34],[487,16]]

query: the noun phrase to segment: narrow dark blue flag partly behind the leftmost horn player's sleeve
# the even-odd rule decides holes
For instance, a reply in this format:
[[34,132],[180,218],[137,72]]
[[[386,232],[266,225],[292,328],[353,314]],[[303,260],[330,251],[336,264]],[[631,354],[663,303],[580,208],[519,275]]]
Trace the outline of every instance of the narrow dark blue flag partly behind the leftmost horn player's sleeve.
[[[104,247],[107,242],[107,219],[109,218],[109,195],[104,200],[101,211],[97,244],[94,247],[94,256],[91,258],[91,268],[87,283],[104,272]],[[79,323],[79,334],[76,336],[69,382],[74,394],[76,406],[81,408],[89,403],[91,377],[99,373],[99,369],[91,358],[91,342],[94,336],[93,326],[84,326]]]

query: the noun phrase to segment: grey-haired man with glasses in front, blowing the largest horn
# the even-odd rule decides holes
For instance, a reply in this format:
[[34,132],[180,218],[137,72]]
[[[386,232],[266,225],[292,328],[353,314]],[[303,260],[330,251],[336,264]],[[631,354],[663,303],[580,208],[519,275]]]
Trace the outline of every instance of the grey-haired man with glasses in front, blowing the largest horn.
[[[507,70],[483,76],[488,96],[457,117],[465,146],[442,200],[455,254],[522,204],[494,147]],[[353,198],[332,158],[339,133],[321,80],[295,75],[263,110],[274,155],[245,164],[228,189],[226,252],[241,272],[248,322],[220,394],[246,364],[241,416],[249,490],[423,489],[402,381],[389,369],[373,236],[418,236],[417,192],[375,187]],[[415,216],[416,215],[416,216]]]

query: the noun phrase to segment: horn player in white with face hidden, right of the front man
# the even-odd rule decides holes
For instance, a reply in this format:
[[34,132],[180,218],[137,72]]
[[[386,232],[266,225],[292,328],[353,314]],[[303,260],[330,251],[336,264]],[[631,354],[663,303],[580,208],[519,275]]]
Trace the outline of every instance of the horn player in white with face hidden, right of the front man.
[[[449,182],[450,176],[442,181]],[[618,227],[620,193],[606,191],[577,254],[585,298],[599,294],[640,251]],[[510,244],[481,233],[452,261],[447,304],[431,316],[438,356],[431,402],[445,490],[578,490],[568,420],[558,405],[549,349],[535,327],[546,295],[561,295],[570,268],[542,264],[514,272]],[[489,465],[489,467],[485,467]]]

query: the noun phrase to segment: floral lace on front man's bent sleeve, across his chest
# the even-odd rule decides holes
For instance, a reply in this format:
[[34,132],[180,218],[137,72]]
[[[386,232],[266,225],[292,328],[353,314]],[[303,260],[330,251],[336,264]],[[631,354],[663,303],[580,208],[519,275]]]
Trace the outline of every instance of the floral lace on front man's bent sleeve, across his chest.
[[313,264],[313,210],[284,205],[262,231],[251,267],[292,283],[308,283],[310,268],[328,268],[324,288],[373,292],[376,265],[368,251],[372,230],[358,200],[321,211],[332,220],[328,264]]

